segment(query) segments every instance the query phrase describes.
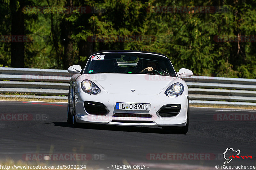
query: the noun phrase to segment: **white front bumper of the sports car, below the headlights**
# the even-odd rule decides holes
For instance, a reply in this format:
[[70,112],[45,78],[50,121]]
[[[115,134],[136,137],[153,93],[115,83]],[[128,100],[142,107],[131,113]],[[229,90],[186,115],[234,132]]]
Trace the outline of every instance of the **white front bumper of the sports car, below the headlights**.
[[[109,94],[101,92],[97,95],[90,95],[83,91],[75,95],[76,122],[78,123],[101,123],[111,125],[158,125],[158,126],[186,126],[187,123],[187,96],[182,94],[177,97],[167,97],[164,93],[158,95],[139,94]],[[107,115],[91,115],[84,108],[84,101],[94,101],[104,104],[108,109]],[[116,103],[150,103],[150,111],[116,110]],[[161,117],[157,112],[167,104],[180,104],[180,112],[173,117]],[[114,117],[115,113],[127,114],[150,114],[152,117]]]

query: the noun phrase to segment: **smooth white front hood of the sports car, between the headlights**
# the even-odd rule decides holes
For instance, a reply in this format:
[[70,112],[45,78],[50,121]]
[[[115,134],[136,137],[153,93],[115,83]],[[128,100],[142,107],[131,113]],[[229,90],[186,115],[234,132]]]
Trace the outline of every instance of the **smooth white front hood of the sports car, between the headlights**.
[[[159,94],[174,77],[148,74],[88,74],[112,94]],[[167,87],[166,87],[167,88]],[[135,90],[132,92],[132,90]]]

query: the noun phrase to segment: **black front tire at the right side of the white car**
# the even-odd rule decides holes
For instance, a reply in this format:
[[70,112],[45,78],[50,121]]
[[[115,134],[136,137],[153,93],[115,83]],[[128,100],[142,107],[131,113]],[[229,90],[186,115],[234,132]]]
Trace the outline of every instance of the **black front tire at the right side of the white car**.
[[171,133],[174,134],[186,134],[188,133],[188,125],[189,125],[189,100],[188,100],[188,112],[187,112],[187,124],[186,126],[183,127],[178,127],[178,126],[163,126],[162,128],[165,131],[170,131]]

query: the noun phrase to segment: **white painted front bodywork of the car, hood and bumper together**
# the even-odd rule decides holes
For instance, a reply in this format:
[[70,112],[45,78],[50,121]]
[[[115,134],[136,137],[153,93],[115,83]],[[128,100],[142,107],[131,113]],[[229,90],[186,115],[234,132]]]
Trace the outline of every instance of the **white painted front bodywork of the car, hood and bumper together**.
[[[113,81],[113,78],[116,79],[122,79],[124,76],[127,75],[127,79],[129,77],[135,77],[134,81],[125,82],[122,81]],[[74,75],[75,76],[75,75]],[[99,77],[95,76],[95,77]],[[187,103],[188,103],[188,86],[186,83],[180,79],[180,78],[165,78],[167,80],[146,80],[145,76],[142,74],[132,75],[132,74],[101,74],[102,77],[106,78],[105,80],[94,80],[91,75],[76,75],[78,79],[76,79],[76,115],[83,115],[83,116],[77,116],[77,122],[101,122],[101,123],[107,123],[107,124],[119,124],[119,125],[138,125],[137,123],[132,124],[126,124],[126,123],[119,123],[119,122],[112,122],[113,120],[120,120],[120,117],[112,117],[112,114],[107,116],[95,116],[90,115],[86,113],[84,109],[84,101],[97,101],[100,103],[104,103],[106,107],[108,108],[110,113],[139,113],[138,111],[127,111],[127,110],[115,110],[116,102],[123,102],[123,103],[150,103],[154,104],[155,107],[152,108],[148,112],[153,116],[153,118],[138,118],[137,120],[140,121],[153,121],[155,123],[152,124],[139,124],[139,125],[169,125],[173,124],[176,126],[183,125],[186,122],[186,116],[187,116]],[[158,77],[157,75],[153,75],[154,77]],[[166,77],[166,76],[164,76]],[[100,94],[93,95],[88,94],[84,92],[81,88],[81,81],[84,79],[89,79],[93,81],[96,85],[99,86],[101,89]],[[125,79],[125,78],[124,78]],[[164,79],[164,78],[162,78]],[[170,80],[171,79],[171,80]],[[110,83],[108,83],[108,81]],[[125,83],[124,83],[125,82]],[[134,85],[137,82],[137,87]],[[168,97],[164,94],[165,90],[172,84],[176,82],[182,82],[184,86],[184,92],[182,95],[177,97]],[[119,87],[119,88],[116,88]],[[151,93],[152,89],[154,87],[159,87],[157,91],[153,94]],[[114,89],[106,91],[105,89]],[[135,92],[132,92],[131,90],[134,89]],[[160,118],[156,115],[156,112],[165,104],[181,104],[181,111],[178,116],[171,117],[171,118]],[[141,111],[140,111],[141,112]],[[141,112],[143,113],[143,111]],[[146,112],[145,112],[146,113]],[[129,118],[124,118],[123,120],[129,120]],[[132,120],[132,119],[131,119]],[[186,125],[186,124],[185,124]]]

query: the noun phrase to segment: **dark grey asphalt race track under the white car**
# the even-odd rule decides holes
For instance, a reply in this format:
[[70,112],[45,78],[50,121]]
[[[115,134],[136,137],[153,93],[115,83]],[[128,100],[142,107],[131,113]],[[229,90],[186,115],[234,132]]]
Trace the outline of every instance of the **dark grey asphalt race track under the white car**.
[[[145,169],[215,169],[225,161],[223,152],[233,148],[252,159],[233,159],[227,165],[256,166],[255,110],[190,107],[186,135],[170,134],[158,127],[92,124],[73,128],[66,122],[66,111],[65,103],[0,101],[0,160],[86,164],[86,169],[102,170],[124,164],[146,165]],[[250,120],[232,120],[231,116],[221,121],[217,114],[232,114],[234,119],[247,115]],[[14,120],[7,120],[10,116]],[[24,116],[28,120],[15,120]],[[51,153],[57,154],[57,160],[33,159]],[[61,157],[74,153],[86,154],[87,159]],[[175,158],[178,154],[179,159]]]

